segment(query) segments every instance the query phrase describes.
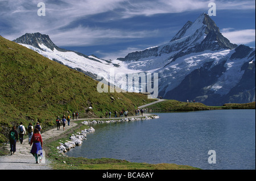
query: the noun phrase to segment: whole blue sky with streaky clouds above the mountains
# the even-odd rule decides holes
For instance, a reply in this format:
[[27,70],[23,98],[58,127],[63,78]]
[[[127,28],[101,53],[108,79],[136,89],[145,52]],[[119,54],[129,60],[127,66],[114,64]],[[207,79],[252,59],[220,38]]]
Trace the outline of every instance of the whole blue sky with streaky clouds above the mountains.
[[[38,16],[39,2],[46,16]],[[40,32],[61,48],[114,59],[167,43],[188,20],[208,13],[209,2],[225,37],[255,47],[254,0],[0,0],[0,35],[14,40]]]

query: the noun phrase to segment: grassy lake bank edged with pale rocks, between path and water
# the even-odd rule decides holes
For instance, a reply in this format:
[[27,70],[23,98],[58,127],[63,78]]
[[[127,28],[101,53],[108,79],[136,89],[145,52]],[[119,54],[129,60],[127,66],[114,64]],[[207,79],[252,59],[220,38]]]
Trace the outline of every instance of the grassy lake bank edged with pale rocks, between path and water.
[[[157,115],[154,115],[157,116]],[[130,121],[135,121],[135,117],[129,117]],[[134,120],[132,120],[134,118]],[[143,121],[146,116],[141,117],[141,119],[137,119],[136,121]],[[151,118],[152,119],[152,118]],[[102,124],[102,119],[80,119],[77,125],[77,128],[73,130],[72,133],[65,134],[65,136],[61,137],[59,140],[55,140],[49,143],[48,155],[51,157],[54,162],[52,163],[53,170],[201,170],[196,167],[188,166],[188,165],[176,165],[174,163],[160,163],[160,164],[150,164],[150,163],[137,163],[137,162],[129,162],[121,159],[114,158],[83,158],[83,157],[69,157],[65,153],[61,153],[60,150],[56,148],[60,145],[64,144],[63,142],[68,142],[68,138],[70,137],[80,137],[81,133],[84,134],[88,129],[92,130],[92,127],[88,127],[86,124],[81,124],[81,120],[89,120],[92,124]],[[94,120],[94,121],[93,121]],[[111,120],[111,119],[106,119]],[[129,121],[129,120],[128,120]],[[111,121],[111,123],[119,123],[119,122],[127,122],[127,120],[118,119],[116,121]],[[110,123],[110,124],[111,124]],[[108,123],[106,123],[108,124]],[[84,135],[86,138],[86,135]],[[66,140],[66,141],[63,141]],[[74,146],[75,148],[75,146]],[[50,153],[51,152],[51,153]]]

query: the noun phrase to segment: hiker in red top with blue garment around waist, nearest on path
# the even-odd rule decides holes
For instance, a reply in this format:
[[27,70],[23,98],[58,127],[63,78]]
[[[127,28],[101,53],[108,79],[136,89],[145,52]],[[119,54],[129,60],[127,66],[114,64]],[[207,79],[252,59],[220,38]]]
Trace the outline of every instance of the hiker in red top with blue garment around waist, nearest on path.
[[34,129],[34,134],[31,138],[30,146],[33,144],[30,153],[35,157],[36,163],[38,163],[38,158],[42,159],[43,156],[43,140],[42,136],[39,133],[39,130],[37,128]]

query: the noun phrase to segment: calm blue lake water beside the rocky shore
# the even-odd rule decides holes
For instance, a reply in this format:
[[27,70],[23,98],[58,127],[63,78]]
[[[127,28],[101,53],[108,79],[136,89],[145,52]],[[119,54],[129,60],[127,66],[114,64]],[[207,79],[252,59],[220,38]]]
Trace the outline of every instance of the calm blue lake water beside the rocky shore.
[[[94,125],[71,157],[255,169],[255,110],[156,113],[159,119]],[[209,163],[209,150],[216,163]],[[212,159],[211,159],[212,160]]]

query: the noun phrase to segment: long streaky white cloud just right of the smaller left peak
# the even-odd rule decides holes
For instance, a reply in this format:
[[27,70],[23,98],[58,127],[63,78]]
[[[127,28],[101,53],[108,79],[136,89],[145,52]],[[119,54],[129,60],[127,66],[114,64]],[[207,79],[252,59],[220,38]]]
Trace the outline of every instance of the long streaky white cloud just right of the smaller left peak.
[[48,35],[57,46],[92,46],[104,45],[129,41],[129,39],[142,39],[144,37],[152,37],[158,33],[153,31],[121,31],[118,29],[104,29],[91,27],[76,27],[71,30],[56,31]]

